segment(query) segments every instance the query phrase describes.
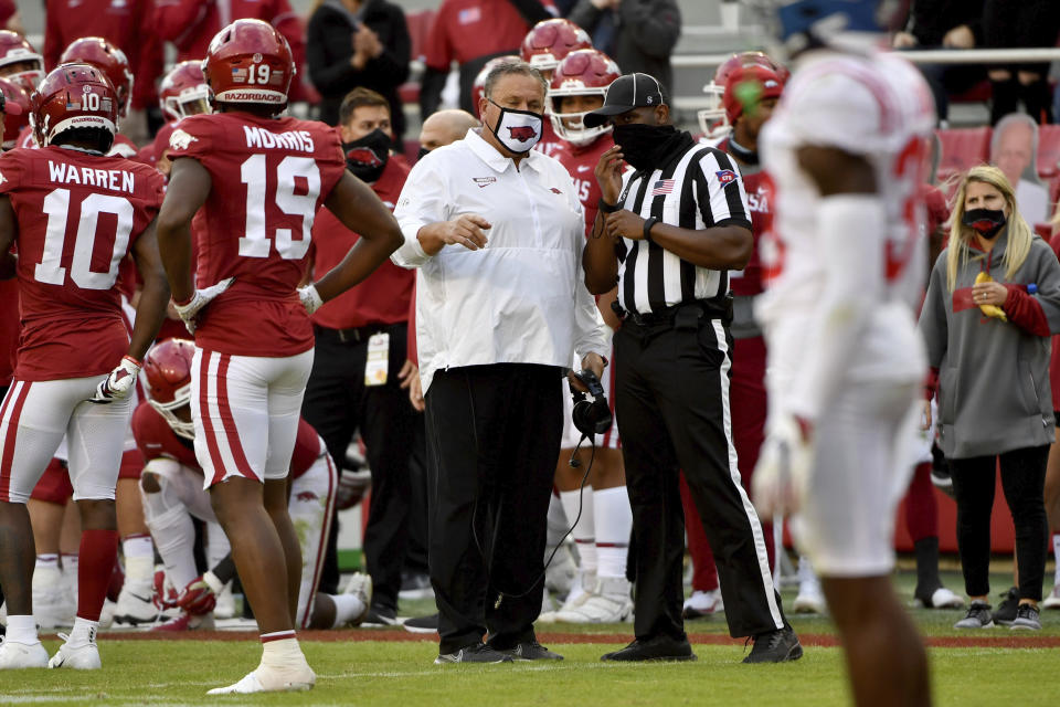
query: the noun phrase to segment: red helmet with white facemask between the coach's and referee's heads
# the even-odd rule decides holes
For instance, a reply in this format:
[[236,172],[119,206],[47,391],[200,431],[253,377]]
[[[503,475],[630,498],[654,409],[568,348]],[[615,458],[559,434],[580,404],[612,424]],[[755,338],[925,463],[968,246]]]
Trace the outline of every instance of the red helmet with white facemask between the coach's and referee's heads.
[[[560,98],[563,96],[600,96],[603,102],[607,86],[622,75],[618,64],[610,56],[594,49],[580,49],[571,52],[560,62],[552,74],[549,85],[549,118],[552,129],[562,139],[573,145],[589,145],[605,133],[611,133],[611,124],[586,128],[582,122],[585,112],[560,113]],[[603,103],[601,103],[603,105]]]

